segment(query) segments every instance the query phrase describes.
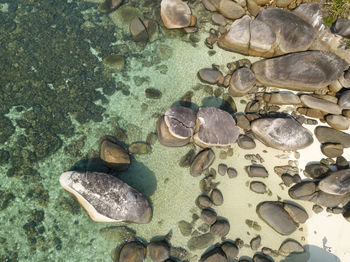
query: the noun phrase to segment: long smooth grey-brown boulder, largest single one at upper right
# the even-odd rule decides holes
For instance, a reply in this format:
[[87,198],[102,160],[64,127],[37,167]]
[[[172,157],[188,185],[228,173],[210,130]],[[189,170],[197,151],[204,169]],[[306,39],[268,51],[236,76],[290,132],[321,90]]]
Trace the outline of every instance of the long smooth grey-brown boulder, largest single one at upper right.
[[260,60],[252,70],[263,85],[312,92],[337,80],[345,67],[346,63],[332,53],[306,51]]

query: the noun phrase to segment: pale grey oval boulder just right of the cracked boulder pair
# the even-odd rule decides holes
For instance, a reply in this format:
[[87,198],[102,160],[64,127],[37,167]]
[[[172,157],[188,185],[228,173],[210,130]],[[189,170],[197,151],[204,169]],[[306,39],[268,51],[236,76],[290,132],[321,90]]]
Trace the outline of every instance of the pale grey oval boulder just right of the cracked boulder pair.
[[313,142],[311,132],[293,118],[261,118],[251,128],[261,142],[279,150],[294,151]]

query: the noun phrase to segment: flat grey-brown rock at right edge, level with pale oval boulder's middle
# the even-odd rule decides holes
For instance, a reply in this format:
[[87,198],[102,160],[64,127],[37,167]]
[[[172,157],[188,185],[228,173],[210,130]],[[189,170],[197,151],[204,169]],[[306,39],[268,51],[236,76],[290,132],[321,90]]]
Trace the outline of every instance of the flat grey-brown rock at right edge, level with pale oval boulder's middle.
[[342,144],[344,148],[350,147],[350,134],[326,126],[315,128],[315,135],[320,143]]

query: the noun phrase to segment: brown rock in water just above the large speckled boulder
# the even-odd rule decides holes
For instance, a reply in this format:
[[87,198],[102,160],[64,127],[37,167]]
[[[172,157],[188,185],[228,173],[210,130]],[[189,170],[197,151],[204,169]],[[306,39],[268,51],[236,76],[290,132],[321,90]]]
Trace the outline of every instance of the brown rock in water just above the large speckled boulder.
[[104,139],[100,144],[100,158],[106,166],[118,171],[126,170],[130,166],[127,151],[108,139]]

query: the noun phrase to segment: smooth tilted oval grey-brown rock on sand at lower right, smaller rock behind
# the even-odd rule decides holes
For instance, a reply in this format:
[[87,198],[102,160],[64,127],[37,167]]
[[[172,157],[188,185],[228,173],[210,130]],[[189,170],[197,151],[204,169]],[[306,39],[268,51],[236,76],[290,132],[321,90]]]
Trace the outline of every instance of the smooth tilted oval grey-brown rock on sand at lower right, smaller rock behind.
[[257,206],[256,212],[262,220],[264,220],[270,227],[281,235],[289,235],[298,228],[298,225],[283,208],[283,204],[281,202],[261,202]]

